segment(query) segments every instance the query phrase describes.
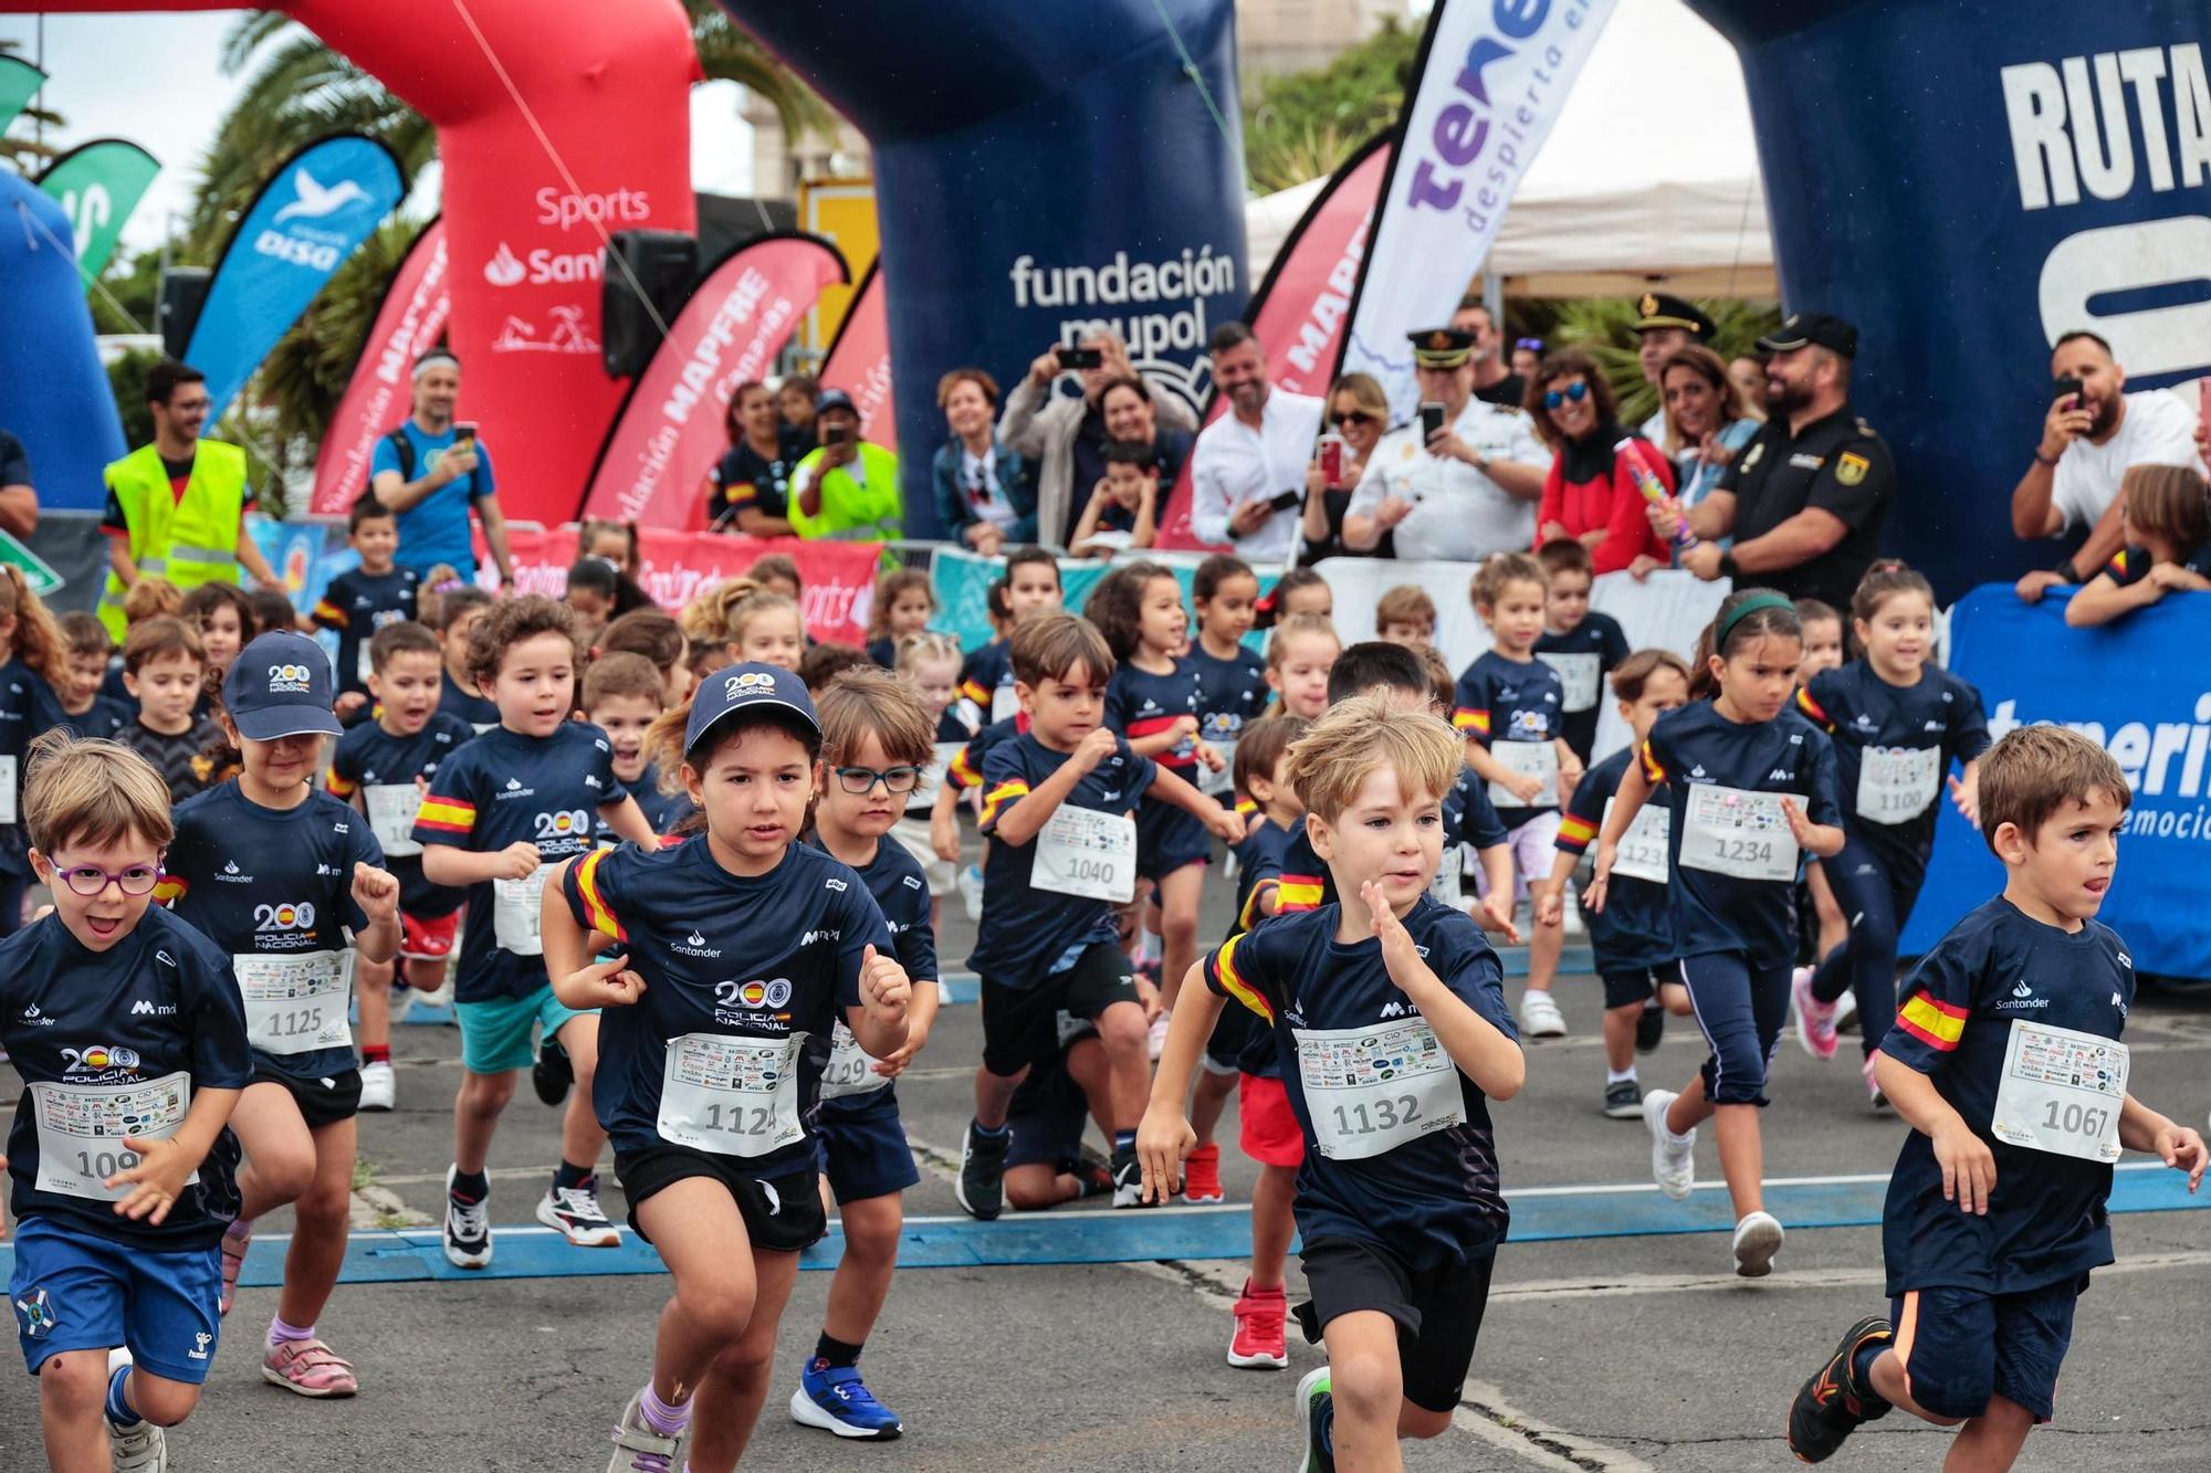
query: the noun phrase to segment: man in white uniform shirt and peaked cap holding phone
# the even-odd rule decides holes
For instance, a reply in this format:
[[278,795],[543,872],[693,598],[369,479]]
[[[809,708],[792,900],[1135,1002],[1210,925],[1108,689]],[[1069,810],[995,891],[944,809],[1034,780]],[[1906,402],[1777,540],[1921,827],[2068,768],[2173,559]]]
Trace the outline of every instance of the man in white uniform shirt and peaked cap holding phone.
[[1382,436],[1344,509],[1344,546],[1371,551],[1395,531],[1397,557],[1481,562],[1528,551],[1550,471],[1534,420],[1475,398],[1475,334],[1422,327],[1406,336],[1419,398],[1442,405],[1444,422],[1426,440],[1419,418]]

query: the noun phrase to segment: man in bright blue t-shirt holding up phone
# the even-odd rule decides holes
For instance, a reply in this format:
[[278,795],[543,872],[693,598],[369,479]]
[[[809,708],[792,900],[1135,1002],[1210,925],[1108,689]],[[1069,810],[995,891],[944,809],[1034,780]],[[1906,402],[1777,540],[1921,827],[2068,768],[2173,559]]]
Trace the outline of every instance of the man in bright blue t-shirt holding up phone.
[[[515,557],[506,546],[506,515],[500,511],[491,451],[475,425],[453,422],[460,400],[460,358],[433,347],[413,365],[413,416],[376,442],[369,489],[400,518],[394,562],[427,575],[438,564],[475,568],[469,511],[484,524],[484,546],[500,571],[500,584],[515,582]],[[471,579],[473,582],[473,579]]]

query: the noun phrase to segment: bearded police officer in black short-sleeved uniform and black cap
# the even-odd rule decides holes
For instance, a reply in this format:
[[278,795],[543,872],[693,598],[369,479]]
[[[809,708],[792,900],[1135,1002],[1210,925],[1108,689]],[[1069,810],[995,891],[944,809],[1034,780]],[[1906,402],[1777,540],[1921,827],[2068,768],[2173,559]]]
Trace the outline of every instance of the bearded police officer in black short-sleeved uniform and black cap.
[[[1758,347],[1767,354],[1767,425],[1718,489],[1689,509],[1689,531],[1702,542],[1680,566],[1848,608],[1879,551],[1897,480],[1888,447],[1851,411],[1857,327],[1798,312]],[[1674,537],[1676,518],[1672,506],[1652,509],[1660,537]],[[1727,535],[1733,546],[1722,551],[1718,537]]]

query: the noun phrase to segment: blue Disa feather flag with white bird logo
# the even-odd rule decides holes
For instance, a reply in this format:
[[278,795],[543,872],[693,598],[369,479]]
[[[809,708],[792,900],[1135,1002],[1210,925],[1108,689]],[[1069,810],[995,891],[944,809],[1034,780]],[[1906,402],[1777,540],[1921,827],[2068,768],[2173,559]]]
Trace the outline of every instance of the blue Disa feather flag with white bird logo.
[[210,420],[405,192],[391,150],[358,133],[307,144],[270,175],[214,268],[184,354],[208,376]]

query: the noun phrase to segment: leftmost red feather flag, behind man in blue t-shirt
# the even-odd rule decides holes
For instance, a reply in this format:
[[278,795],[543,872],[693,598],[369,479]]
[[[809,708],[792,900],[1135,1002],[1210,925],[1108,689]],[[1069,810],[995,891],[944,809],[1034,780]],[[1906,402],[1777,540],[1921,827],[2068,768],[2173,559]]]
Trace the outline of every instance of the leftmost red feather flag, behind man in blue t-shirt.
[[310,511],[345,515],[369,487],[376,442],[413,411],[413,361],[438,343],[451,314],[440,217],[422,226],[422,234],[391,272],[385,301],[376,307],[376,325],[360,345],[360,361],[329,416],[323,449],[316,451]]

